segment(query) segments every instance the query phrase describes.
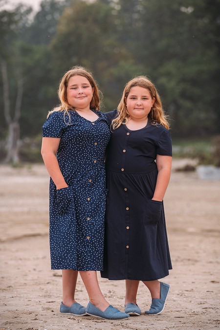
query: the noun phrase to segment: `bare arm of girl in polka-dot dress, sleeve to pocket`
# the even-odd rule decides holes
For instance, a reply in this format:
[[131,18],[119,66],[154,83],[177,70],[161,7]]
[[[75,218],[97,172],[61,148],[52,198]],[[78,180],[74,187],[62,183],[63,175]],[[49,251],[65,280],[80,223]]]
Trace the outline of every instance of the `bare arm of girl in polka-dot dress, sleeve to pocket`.
[[68,187],[56,158],[59,144],[58,137],[43,137],[41,149],[44,164],[57,189]]

